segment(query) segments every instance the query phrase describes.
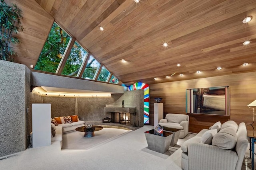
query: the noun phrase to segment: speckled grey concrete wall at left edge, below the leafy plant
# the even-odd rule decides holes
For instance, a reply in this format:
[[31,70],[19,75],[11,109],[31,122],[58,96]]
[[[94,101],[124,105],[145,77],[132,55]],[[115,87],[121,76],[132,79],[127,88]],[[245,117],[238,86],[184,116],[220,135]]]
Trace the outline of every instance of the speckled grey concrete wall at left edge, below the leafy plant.
[[0,60],[0,157],[26,149],[26,107],[30,71]]

